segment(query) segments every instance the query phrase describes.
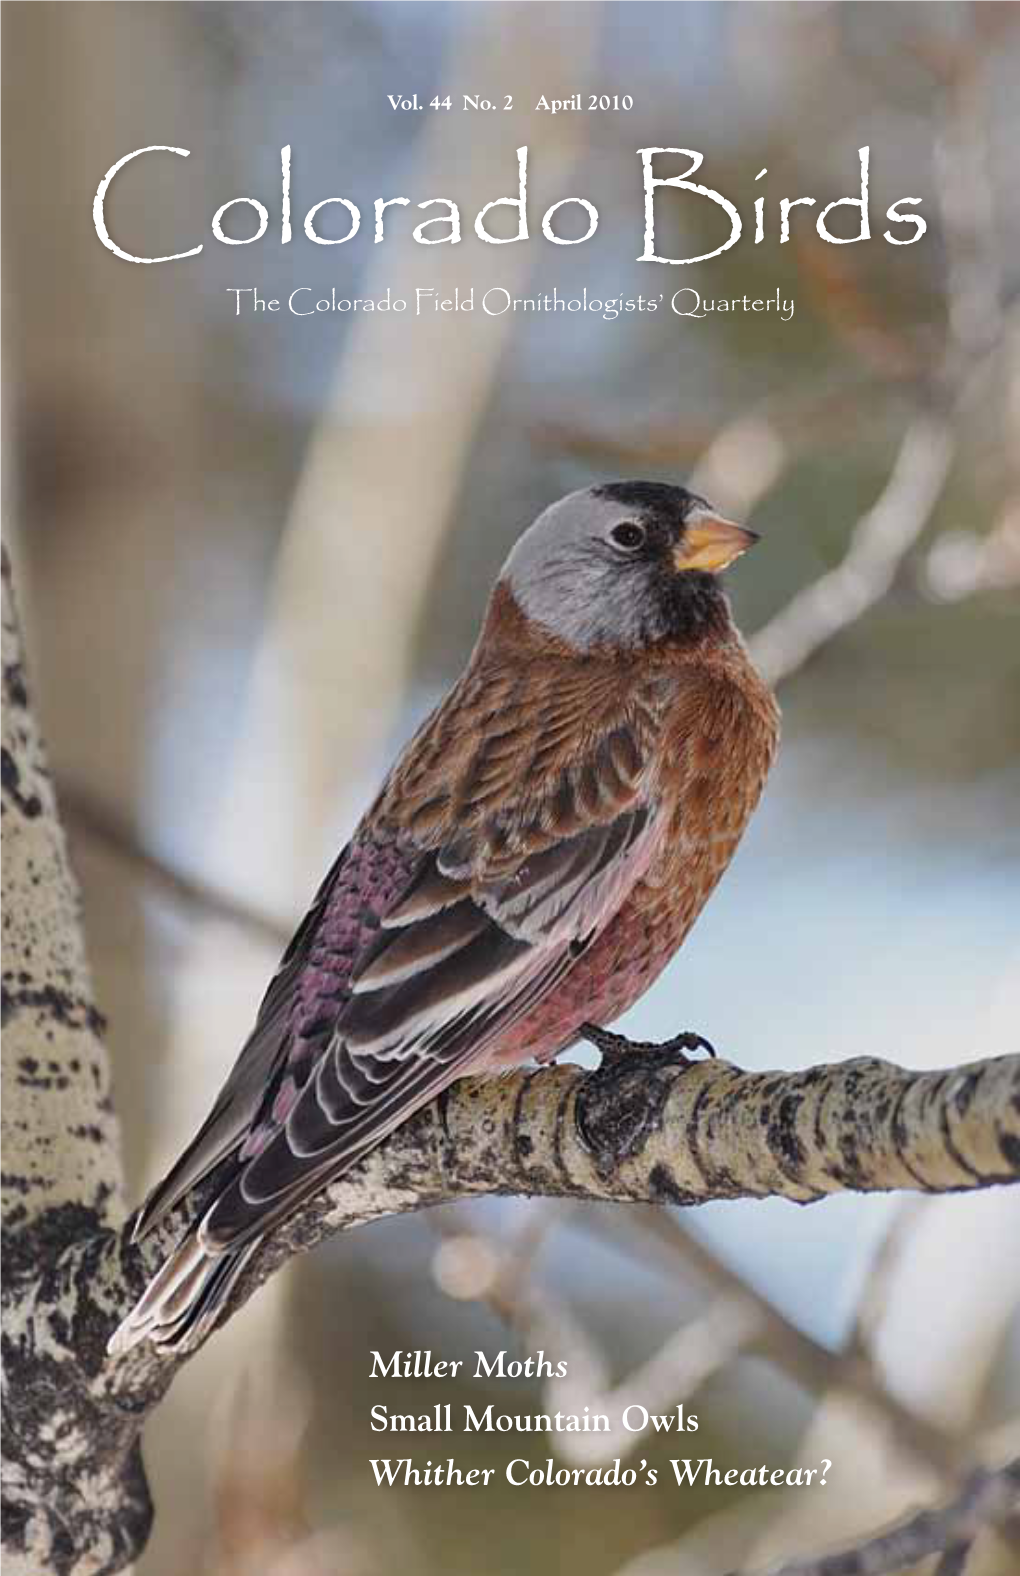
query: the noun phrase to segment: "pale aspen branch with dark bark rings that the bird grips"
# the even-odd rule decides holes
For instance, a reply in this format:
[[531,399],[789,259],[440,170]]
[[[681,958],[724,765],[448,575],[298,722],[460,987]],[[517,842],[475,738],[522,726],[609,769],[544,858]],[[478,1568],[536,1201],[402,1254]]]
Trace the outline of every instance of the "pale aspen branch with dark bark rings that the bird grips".
[[[1020,1057],[908,1072],[872,1057],[795,1073],[634,1051],[588,1072],[563,1065],[465,1078],[271,1234],[230,1318],[287,1258],[337,1231],[490,1195],[700,1204],[840,1191],[965,1191],[1020,1180]],[[203,1195],[140,1247],[109,1234],[60,1261],[96,1336],[109,1336]],[[46,1316],[44,1299],[36,1310]],[[101,1366],[117,1406],[145,1409],[181,1354],[151,1346]]]

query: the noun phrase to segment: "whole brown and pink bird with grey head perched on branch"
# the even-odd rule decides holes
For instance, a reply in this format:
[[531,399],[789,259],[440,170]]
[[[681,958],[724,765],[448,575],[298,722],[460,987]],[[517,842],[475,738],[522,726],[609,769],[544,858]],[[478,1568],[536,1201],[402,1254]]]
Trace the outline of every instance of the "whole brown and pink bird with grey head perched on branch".
[[266,1232],[457,1078],[627,1043],[602,1026],[683,944],[776,755],[779,709],[720,583],[757,541],[648,481],[572,492],[517,539],[463,673],[139,1210],[136,1240],[203,1188],[110,1352],[199,1344]]

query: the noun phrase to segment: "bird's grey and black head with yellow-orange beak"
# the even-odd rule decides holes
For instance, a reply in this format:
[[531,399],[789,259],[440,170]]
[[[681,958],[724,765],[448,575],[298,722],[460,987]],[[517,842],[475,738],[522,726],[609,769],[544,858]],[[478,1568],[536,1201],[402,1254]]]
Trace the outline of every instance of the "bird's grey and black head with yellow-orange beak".
[[527,618],[577,651],[640,651],[725,637],[719,574],[757,539],[684,487],[609,482],[545,509],[500,580]]

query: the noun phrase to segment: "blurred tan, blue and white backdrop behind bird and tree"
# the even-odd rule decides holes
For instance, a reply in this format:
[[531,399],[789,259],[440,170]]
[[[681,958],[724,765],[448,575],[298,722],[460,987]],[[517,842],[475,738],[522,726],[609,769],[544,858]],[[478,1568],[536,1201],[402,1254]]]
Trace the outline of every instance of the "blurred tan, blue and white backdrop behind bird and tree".
[[[509,544],[560,493],[618,476],[692,479],[765,534],[731,593],[785,714],[731,873],[623,1028],[694,1026],[749,1067],[1015,1048],[1017,22],[938,3],[3,6],[5,530],[132,1201],[205,1116],[322,870],[463,663]],[[415,91],[516,107],[389,109]],[[533,112],[575,91],[634,109]],[[514,194],[525,142],[533,240],[481,246],[473,214]],[[114,236],[205,251],[145,268],[102,249],[91,199],[150,143],[191,158],[120,173]],[[637,263],[650,143],[702,150],[698,178],[744,216],[765,191],[766,241],[746,224],[709,263]],[[793,210],[780,246],[779,197],[815,195],[817,214],[854,195],[864,143],[875,236],[903,195],[927,236],[834,247]],[[574,192],[599,233],[552,247],[538,221]],[[396,194],[457,200],[463,244],[415,246],[419,216],[389,210],[375,247],[372,199]],[[251,247],[208,233],[236,195],[270,208]],[[341,251],[301,233],[329,195],[363,208]],[[720,244],[717,224],[659,199],[672,255]],[[238,317],[229,293],[298,285],[779,288],[796,309],[295,318]],[[175,1382],[147,1431],[142,1576],[714,1576],[859,1538],[1015,1450],[1018,1231],[1009,1193],[492,1201],[358,1231],[292,1262]],[[702,1426],[426,1437],[415,1455],[497,1466],[493,1485],[452,1505],[377,1489],[369,1458],[407,1442],[369,1431],[369,1352],[397,1347],[544,1347],[569,1377],[388,1381],[396,1411],[683,1399]],[[586,1466],[599,1448],[657,1466],[659,1486],[503,1483],[511,1456]],[[672,1486],[670,1455],[832,1466],[812,1492],[702,1492]],[[968,1570],[1011,1556],[988,1540]]]

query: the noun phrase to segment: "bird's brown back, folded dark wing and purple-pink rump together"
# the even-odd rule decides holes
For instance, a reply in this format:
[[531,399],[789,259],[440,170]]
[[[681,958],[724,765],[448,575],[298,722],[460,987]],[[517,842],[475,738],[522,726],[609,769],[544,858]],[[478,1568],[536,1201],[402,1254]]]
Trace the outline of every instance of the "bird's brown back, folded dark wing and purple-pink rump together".
[[662,831],[659,708],[575,668],[542,682],[528,701],[468,670],[419,731],[266,993],[218,1147],[183,1157],[147,1223],[233,1144],[199,1237],[260,1236],[482,1061],[620,908]]

